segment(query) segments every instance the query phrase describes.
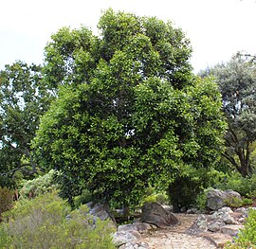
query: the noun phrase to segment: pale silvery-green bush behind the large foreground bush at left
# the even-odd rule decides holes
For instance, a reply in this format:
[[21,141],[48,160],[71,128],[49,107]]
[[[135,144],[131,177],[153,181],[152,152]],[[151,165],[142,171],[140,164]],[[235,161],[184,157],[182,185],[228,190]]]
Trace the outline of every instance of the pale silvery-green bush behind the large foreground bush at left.
[[22,183],[20,189],[20,196],[27,198],[29,195],[36,197],[40,194],[45,194],[52,191],[57,186],[54,184],[54,175],[56,171],[51,169],[48,173],[43,176],[39,176],[33,180],[26,180]]

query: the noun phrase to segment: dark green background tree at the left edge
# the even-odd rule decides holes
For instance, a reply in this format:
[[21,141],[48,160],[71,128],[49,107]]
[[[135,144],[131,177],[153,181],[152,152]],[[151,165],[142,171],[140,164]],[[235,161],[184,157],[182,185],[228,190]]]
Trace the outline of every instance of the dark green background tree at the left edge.
[[50,99],[41,70],[34,64],[15,62],[0,72],[1,185],[8,185],[17,170],[25,174],[36,170],[30,141]]

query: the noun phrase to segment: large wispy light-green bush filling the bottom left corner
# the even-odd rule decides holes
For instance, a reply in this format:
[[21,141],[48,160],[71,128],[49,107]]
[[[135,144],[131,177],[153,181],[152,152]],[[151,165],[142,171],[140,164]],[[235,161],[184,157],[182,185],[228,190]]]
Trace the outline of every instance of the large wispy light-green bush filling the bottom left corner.
[[86,205],[70,210],[56,192],[17,202],[3,215],[1,248],[115,248],[108,221],[93,220]]

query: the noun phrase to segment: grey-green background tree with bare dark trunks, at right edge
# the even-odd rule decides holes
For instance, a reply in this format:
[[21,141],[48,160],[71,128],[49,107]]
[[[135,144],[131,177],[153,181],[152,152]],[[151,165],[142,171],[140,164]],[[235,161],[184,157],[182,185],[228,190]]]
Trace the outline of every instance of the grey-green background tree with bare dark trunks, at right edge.
[[223,154],[243,176],[254,169],[251,164],[256,140],[256,66],[250,57],[238,53],[229,62],[204,72],[215,77],[223,98],[229,130]]

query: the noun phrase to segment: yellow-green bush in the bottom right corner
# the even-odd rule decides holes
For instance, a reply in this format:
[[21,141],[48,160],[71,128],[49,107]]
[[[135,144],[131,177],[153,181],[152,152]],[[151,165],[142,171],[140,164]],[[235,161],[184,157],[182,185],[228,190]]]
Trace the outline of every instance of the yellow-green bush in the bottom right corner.
[[256,210],[250,209],[245,228],[238,234],[234,244],[227,244],[226,249],[256,249]]

